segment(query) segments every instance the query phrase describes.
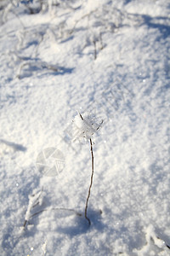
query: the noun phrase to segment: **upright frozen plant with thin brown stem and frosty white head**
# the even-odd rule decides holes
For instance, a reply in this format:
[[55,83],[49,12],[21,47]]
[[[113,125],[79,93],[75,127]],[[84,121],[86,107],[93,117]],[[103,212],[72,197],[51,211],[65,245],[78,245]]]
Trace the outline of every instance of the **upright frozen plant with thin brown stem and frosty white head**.
[[93,178],[94,178],[94,150],[93,150],[93,142],[92,142],[92,136],[96,131],[99,130],[100,126],[103,124],[103,120],[100,122],[100,124],[97,124],[94,116],[84,113],[83,116],[81,113],[77,113],[77,116],[73,120],[73,141],[81,140],[82,138],[86,141],[89,141],[90,143],[90,151],[91,151],[91,157],[92,157],[92,172],[91,172],[91,179],[90,179],[90,185],[88,188],[88,197],[86,200],[86,206],[84,211],[84,216],[88,220],[88,224],[91,224],[90,219],[88,218],[88,200],[90,197],[90,192],[93,184]]

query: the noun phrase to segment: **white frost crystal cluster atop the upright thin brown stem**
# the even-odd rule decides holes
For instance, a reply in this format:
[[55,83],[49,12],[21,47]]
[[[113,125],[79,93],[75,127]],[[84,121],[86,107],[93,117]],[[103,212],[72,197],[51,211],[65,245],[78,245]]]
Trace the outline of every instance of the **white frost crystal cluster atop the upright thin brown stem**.
[[[100,123],[102,125],[103,121]],[[85,140],[89,140],[96,131],[99,130],[99,124],[96,123],[93,115],[88,113],[78,113],[75,119],[73,120],[73,134],[72,141],[81,140],[84,138]]]

